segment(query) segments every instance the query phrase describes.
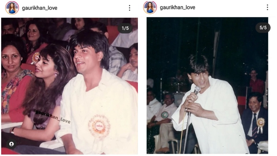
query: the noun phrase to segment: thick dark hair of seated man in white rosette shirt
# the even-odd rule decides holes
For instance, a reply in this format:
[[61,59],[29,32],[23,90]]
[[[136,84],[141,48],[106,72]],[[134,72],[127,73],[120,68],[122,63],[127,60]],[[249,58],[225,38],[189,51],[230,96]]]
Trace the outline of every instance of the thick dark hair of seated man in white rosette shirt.
[[70,51],[76,46],[92,47],[95,53],[103,52],[101,60],[101,67],[104,69],[109,68],[109,43],[105,35],[90,29],[85,29],[74,35],[69,41]]

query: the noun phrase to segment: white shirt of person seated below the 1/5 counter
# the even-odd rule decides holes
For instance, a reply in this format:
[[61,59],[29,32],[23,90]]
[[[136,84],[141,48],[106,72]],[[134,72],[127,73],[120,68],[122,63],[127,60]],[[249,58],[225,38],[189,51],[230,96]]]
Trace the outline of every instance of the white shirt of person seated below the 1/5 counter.
[[138,43],[138,29],[128,34],[119,33],[113,41],[112,46],[130,48],[134,43]]

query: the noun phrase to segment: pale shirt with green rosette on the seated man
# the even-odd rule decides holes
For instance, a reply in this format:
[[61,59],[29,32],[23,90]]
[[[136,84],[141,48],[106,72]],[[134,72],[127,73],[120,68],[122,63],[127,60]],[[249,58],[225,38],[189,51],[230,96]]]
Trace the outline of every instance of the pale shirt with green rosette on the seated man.
[[171,119],[171,116],[176,111],[177,106],[174,103],[171,103],[171,105],[167,106],[166,104],[162,105],[159,112],[155,114],[156,119],[155,121],[162,121],[164,119]]

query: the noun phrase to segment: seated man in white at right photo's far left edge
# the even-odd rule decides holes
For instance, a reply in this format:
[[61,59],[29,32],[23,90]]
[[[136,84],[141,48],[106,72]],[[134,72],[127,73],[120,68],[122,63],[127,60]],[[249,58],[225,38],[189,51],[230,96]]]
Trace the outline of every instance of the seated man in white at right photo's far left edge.
[[162,104],[156,99],[156,95],[154,94],[152,88],[147,89],[147,120],[151,120],[151,118],[159,112]]

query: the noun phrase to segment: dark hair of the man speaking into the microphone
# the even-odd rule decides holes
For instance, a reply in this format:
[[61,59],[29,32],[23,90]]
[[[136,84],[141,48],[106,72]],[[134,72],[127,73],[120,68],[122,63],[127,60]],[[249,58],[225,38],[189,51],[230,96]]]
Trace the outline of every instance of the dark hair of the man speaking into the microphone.
[[[191,73],[203,73],[203,72],[209,72],[209,64],[208,59],[204,55],[190,55],[188,58],[188,69],[187,73],[191,75]],[[190,83],[193,83],[191,79],[189,79]]]

